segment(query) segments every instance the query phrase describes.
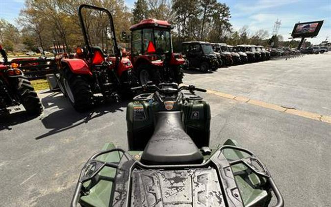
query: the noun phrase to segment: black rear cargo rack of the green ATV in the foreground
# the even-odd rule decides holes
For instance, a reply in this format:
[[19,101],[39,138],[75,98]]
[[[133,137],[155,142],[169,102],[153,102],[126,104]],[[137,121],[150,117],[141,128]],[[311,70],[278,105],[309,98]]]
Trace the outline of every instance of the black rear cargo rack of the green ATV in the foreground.
[[[241,158],[237,160],[228,161],[227,158],[223,155],[222,151],[226,149],[237,150],[240,152],[244,152],[249,155],[247,158]],[[118,152],[119,154],[123,154],[121,160],[118,163],[111,163],[111,162],[104,162],[97,160],[96,158],[100,155],[105,155],[112,152]],[[151,175],[144,175],[145,177],[151,177],[155,174],[164,174],[167,170],[174,170],[174,171],[183,171],[193,172],[195,170],[204,171],[204,174],[211,174],[211,171],[215,171],[217,174],[219,183],[218,186],[220,187],[221,203],[217,203],[220,207],[244,207],[244,203],[242,201],[239,188],[236,184],[234,179],[234,175],[231,169],[231,166],[243,164],[252,172],[254,172],[257,176],[264,178],[266,180],[266,184],[270,186],[270,189],[274,192],[277,203],[273,207],[283,207],[284,201],[280,194],[278,187],[276,186],[274,180],[272,179],[269,171],[267,170],[266,166],[249,150],[231,146],[231,145],[224,145],[218,150],[215,151],[213,155],[209,159],[207,159],[202,164],[185,164],[185,165],[145,165],[140,161],[134,159],[131,155],[129,155],[123,149],[111,149],[99,152],[93,155],[84,165],[82,171],[79,176],[79,180],[76,184],[75,193],[71,202],[71,207],[76,207],[80,196],[87,195],[86,189],[83,186],[83,183],[86,181],[93,182],[93,179],[98,177],[98,181],[100,180],[107,180],[112,181],[113,191],[110,196],[109,207],[131,207],[131,196],[134,194],[135,198],[139,198],[136,196],[136,192],[140,193],[137,186],[146,184],[140,183],[142,179],[143,173],[151,174]],[[98,175],[104,166],[115,168],[116,175],[114,178],[104,177]],[[139,178],[133,180],[132,177]],[[157,175],[159,176],[159,175]],[[155,176],[155,177],[157,177]],[[164,176],[164,175],[163,175]],[[208,177],[210,178],[210,177]],[[208,180],[208,179],[207,179]],[[96,182],[98,182],[96,181]],[[139,182],[139,183],[136,183]],[[97,183],[94,183],[94,185]],[[161,183],[158,183],[161,184]],[[93,186],[94,186],[93,185]],[[154,184],[153,184],[154,185]],[[153,188],[153,185],[149,184],[149,187]],[[157,186],[156,186],[157,187]],[[210,186],[209,186],[210,187]],[[154,186],[155,188],[155,186]],[[157,193],[153,193],[157,194]],[[140,194],[139,194],[140,195]],[[186,197],[186,196],[185,196]],[[211,196],[212,197],[212,196]],[[218,198],[217,197],[217,198]],[[223,197],[223,198],[222,198]],[[155,196],[156,198],[156,196]],[[159,202],[159,201],[158,201]],[[136,207],[139,202],[135,202],[133,205]]]

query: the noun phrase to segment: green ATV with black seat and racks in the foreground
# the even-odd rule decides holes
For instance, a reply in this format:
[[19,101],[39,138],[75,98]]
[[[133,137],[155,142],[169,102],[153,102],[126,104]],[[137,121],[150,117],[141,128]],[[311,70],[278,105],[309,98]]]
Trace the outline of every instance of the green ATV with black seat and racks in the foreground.
[[[82,207],[275,207],[265,165],[227,140],[209,149],[210,107],[193,85],[144,85],[127,107],[129,150],[111,143],[84,165],[71,202]],[[184,92],[187,91],[187,92]],[[143,151],[142,151],[143,150]]]

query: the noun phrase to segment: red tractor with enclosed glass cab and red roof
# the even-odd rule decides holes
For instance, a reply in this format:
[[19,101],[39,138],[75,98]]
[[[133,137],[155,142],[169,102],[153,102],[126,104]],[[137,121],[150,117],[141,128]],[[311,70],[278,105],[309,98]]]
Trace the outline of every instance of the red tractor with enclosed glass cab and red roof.
[[130,58],[141,84],[153,81],[181,83],[185,60],[173,52],[167,21],[147,19],[130,27]]

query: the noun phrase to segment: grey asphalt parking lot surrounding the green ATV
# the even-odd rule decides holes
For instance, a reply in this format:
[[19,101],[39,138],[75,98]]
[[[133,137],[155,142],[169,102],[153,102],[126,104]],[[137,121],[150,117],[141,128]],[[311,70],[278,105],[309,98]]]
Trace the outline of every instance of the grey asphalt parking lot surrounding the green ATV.
[[[185,73],[208,89],[211,146],[232,138],[255,152],[288,207],[331,206],[330,65],[331,52]],[[1,207],[69,206],[85,161],[107,142],[127,148],[127,103],[77,113],[58,92],[39,96],[41,116],[1,117]]]

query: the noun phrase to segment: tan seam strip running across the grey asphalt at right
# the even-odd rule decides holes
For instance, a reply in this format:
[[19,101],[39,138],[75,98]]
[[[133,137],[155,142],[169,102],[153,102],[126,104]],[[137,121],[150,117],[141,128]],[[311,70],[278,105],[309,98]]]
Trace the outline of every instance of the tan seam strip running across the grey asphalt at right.
[[312,119],[312,120],[316,120],[316,121],[321,121],[324,123],[328,123],[331,124],[331,116],[325,116],[325,115],[321,115],[321,114],[317,114],[317,113],[312,113],[309,111],[303,111],[303,110],[298,110],[295,108],[287,108],[281,105],[277,105],[277,104],[273,104],[273,103],[266,103],[263,101],[258,101],[258,100],[254,100],[254,99],[250,99],[247,97],[241,97],[241,96],[234,96],[231,94],[226,94],[226,93],[222,93],[219,91],[215,91],[215,90],[211,90],[211,89],[207,89],[208,94],[213,94],[225,99],[231,99],[237,102],[242,102],[242,103],[248,103],[251,105],[257,105],[257,106],[261,106],[263,108],[269,108],[272,110],[276,110],[276,111],[280,111],[283,113],[287,113],[287,114],[292,114],[292,115],[296,115],[296,116],[301,116],[301,117],[305,117],[308,119]]

